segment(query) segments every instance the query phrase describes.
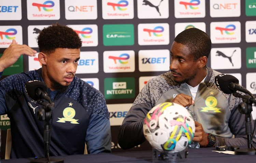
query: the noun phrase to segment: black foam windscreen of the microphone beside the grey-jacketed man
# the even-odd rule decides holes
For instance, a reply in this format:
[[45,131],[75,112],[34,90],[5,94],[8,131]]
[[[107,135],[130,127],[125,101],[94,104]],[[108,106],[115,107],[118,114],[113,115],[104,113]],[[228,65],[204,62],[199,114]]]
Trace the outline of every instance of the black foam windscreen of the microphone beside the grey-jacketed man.
[[239,83],[239,80],[232,75],[220,74],[215,77],[215,84],[225,94],[232,94],[233,90],[228,87],[229,83]]

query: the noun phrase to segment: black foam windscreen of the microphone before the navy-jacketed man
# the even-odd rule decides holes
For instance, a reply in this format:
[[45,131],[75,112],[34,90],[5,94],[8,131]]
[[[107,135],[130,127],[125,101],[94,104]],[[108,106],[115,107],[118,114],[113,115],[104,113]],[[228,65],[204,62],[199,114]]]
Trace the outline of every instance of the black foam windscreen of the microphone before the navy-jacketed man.
[[35,94],[37,88],[42,89],[44,92],[47,91],[47,86],[44,82],[32,80],[25,83],[25,90],[33,100],[38,100],[38,96]]

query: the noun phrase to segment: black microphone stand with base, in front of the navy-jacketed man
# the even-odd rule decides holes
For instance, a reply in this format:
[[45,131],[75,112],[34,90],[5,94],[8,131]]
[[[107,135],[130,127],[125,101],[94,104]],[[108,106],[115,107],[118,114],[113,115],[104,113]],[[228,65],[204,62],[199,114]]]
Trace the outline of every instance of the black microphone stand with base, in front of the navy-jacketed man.
[[44,109],[40,109],[37,113],[37,117],[41,121],[45,121],[44,125],[44,154],[45,158],[35,158],[30,161],[30,163],[64,163],[64,160],[58,158],[49,157],[49,147],[50,147],[50,136],[52,123],[50,125],[49,121],[53,117],[54,103],[44,102],[42,100],[37,100],[38,104],[43,105]]

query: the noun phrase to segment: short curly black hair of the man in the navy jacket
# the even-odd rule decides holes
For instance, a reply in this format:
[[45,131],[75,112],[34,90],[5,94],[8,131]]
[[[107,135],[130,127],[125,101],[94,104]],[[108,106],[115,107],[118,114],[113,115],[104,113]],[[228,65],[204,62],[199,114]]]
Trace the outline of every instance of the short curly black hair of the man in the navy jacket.
[[76,32],[58,23],[45,27],[37,37],[39,51],[46,54],[55,52],[57,48],[79,49],[82,41]]

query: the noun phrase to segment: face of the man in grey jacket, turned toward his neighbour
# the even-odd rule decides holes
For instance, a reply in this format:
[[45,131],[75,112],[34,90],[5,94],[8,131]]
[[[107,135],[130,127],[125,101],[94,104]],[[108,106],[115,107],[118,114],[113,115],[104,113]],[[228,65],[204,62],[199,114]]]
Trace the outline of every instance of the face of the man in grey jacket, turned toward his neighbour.
[[188,47],[174,41],[171,47],[170,65],[174,81],[187,84],[193,82],[198,72],[197,65],[198,61],[194,61],[194,56],[190,54]]

